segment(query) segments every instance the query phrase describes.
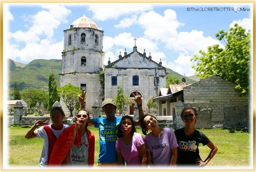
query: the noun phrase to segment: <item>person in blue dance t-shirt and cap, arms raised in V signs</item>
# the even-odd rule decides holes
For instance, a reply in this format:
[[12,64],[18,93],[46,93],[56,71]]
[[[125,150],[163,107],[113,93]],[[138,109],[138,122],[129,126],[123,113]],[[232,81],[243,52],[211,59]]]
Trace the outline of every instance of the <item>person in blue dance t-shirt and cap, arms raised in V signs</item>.
[[[79,95],[79,102],[81,108],[85,108],[84,96],[86,92]],[[134,95],[134,94],[133,94]],[[143,108],[141,95],[137,93],[135,102],[138,105],[139,119],[143,117]],[[102,102],[102,109],[106,114],[106,118],[94,118],[89,119],[89,125],[94,125],[95,128],[99,128],[100,137],[100,153],[97,163],[97,169],[118,169],[117,155],[115,151],[115,141],[118,139],[118,125],[120,124],[122,117],[115,117],[116,103],[113,99],[107,98]],[[134,120],[135,126],[140,125],[140,120]]]

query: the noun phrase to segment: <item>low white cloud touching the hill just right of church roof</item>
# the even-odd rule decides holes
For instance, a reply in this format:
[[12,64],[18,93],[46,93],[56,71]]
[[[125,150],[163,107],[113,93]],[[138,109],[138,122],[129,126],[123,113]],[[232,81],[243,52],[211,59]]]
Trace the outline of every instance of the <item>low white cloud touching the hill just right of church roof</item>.
[[192,56],[180,54],[174,62],[162,60],[162,63],[164,67],[170,68],[181,75],[185,73],[185,76],[191,76],[195,73],[194,69],[191,68],[194,64],[194,62],[190,61],[191,58]]

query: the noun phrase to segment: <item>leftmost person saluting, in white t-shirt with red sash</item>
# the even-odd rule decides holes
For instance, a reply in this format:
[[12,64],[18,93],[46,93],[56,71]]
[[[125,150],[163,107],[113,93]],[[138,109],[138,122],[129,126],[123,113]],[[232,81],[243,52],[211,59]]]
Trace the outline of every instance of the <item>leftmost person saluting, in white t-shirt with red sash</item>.
[[[40,157],[40,169],[47,169],[49,157],[52,152],[52,148],[54,147],[55,141],[58,136],[65,130],[65,128],[69,127],[68,125],[62,124],[62,120],[65,118],[65,114],[61,107],[54,107],[51,109],[50,117],[52,124],[47,125],[44,121],[36,121],[35,124],[30,128],[30,130],[25,135],[25,138],[43,138],[44,145],[42,154]],[[42,126],[44,125],[44,126]],[[36,131],[35,129],[39,126]]]

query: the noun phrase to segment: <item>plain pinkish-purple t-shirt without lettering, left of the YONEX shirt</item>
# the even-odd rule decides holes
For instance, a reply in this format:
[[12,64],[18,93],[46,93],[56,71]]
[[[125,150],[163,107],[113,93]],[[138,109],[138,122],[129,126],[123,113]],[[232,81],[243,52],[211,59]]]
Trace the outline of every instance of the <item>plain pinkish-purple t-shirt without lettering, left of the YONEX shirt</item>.
[[139,147],[145,144],[140,133],[134,133],[130,145],[125,145],[122,137],[115,142],[115,150],[121,152],[125,162],[126,169],[141,169],[141,155]]

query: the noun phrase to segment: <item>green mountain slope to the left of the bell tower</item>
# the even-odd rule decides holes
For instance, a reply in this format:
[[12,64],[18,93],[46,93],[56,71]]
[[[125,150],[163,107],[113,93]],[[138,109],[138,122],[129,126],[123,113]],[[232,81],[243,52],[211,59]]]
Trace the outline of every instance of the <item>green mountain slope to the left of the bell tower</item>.
[[[36,59],[31,61],[25,67],[14,66],[14,61],[8,60],[5,64],[6,71],[8,72],[8,77],[5,78],[7,85],[14,87],[15,82],[20,90],[27,88],[37,88],[37,89],[48,89],[48,77],[50,72],[53,70],[55,74],[58,86],[61,73],[61,60],[51,59]],[[6,73],[7,73],[6,72]]]

